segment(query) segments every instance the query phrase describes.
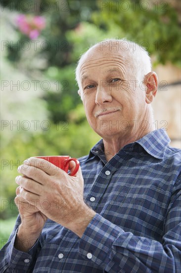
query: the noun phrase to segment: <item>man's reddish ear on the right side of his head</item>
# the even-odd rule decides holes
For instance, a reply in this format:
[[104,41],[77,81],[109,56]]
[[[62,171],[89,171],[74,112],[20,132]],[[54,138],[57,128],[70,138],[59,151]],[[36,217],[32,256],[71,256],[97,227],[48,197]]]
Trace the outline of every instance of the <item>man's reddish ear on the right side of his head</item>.
[[149,72],[144,76],[144,84],[146,85],[146,103],[151,103],[156,96],[158,88],[158,77],[157,74],[153,71]]

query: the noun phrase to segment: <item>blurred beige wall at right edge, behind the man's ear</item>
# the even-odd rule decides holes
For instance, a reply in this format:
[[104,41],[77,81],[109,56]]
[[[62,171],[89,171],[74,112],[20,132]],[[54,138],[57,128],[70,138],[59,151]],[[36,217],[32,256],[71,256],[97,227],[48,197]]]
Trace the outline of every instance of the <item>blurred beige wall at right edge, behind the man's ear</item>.
[[167,130],[171,146],[181,148],[181,69],[171,64],[153,69],[159,80],[152,103],[155,126]]

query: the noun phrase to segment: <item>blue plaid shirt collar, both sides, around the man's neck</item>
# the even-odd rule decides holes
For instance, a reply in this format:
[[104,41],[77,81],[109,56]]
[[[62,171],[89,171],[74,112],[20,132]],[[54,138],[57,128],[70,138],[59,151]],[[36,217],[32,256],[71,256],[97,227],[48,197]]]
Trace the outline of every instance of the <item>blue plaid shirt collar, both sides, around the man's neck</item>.
[[[140,139],[136,140],[133,143],[125,145],[122,149],[128,148],[128,145],[133,147],[134,143],[138,143],[150,155],[159,159],[163,159],[165,150],[170,143],[170,138],[166,134],[164,129],[158,129],[152,131],[146,136],[141,137]],[[104,154],[104,144],[103,140],[100,139],[91,148],[88,159],[95,155],[101,156],[102,154]]]

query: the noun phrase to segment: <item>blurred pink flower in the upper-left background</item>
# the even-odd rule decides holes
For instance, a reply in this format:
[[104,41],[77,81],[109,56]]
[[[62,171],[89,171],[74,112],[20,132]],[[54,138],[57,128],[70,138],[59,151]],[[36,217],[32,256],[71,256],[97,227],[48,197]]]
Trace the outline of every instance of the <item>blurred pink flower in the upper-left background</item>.
[[20,14],[16,21],[19,30],[29,36],[30,39],[37,38],[41,30],[45,28],[45,18],[43,16]]

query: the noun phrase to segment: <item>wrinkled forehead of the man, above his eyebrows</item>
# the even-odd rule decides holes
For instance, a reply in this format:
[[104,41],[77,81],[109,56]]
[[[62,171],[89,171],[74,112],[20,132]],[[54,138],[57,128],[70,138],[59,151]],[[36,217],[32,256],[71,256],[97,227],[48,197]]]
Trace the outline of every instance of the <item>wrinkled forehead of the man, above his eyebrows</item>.
[[91,49],[87,52],[80,63],[80,77],[88,77],[91,72],[103,70],[104,72],[122,72],[126,75],[130,71],[133,61],[128,52],[109,50],[100,51]]

